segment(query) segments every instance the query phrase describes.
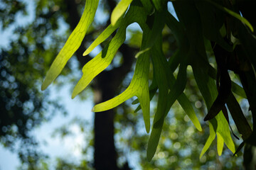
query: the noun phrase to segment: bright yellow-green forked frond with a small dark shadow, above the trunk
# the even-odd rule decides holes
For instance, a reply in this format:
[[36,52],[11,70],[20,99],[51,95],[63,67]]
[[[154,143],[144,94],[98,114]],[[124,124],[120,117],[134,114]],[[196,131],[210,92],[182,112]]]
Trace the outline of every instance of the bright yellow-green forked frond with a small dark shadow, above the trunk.
[[[105,31],[95,40],[92,42],[92,45],[85,51],[85,54],[89,53],[93,50],[94,47],[100,44],[100,42],[104,41],[108,36],[113,33],[113,31],[120,26],[117,34],[114,35],[114,38],[110,41],[110,43],[100,52],[95,58],[87,62],[85,66],[82,68],[82,77],[78,84],[75,86],[75,89],[72,94],[72,98],[75,98],[83,89],[90,84],[93,78],[100,74],[107,66],[110,65],[112,62],[114,55],[116,54],[119,47],[122,45],[126,38],[126,28],[129,26],[130,23],[134,21],[136,18],[139,21],[143,21],[145,19],[144,11],[142,8],[137,6],[131,6],[130,10],[127,11],[127,15],[124,18],[120,18],[117,22],[117,26],[108,26]],[[136,17],[139,14],[140,17]]]

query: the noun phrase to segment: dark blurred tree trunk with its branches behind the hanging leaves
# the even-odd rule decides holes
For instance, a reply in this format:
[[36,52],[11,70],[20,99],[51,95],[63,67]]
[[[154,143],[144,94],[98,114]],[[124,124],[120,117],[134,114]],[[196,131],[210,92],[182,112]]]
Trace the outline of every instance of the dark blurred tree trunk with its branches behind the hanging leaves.
[[[115,2],[108,1],[110,8],[114,8]],[[65,0],[67,11],[69,14],[68,23],[73,30],[80,20],[78,13],[78,4],[73,0]],[[110,23],[110,21],[107,21]],[[85,36],[86,37],[86,36]],[[84,40],[85,42],[85,40]],[[90,57],[83,57],[85,51],[84,42],[76,52],[80,67],[83,67]],[[119,49],[123,55],[123,62],[120,67],[116,67],[110,71],[102,72],[95,78],[92,89],[95,95],[95,104],[107,101],[117,95],[119,86],[122,85],[124,77],[130,71],[133,62],[133,49],[127,45],[122,45]],[[117,168],[117,152],[114,147],[114,115],[115,111],[104,111],[95,113],[94,121],[94,166],[97,170],[116,170]],[[125,165],[127,167],[127,165]],[[129,167],[129,166],[128,166]],[[129,168],[128,168],[129,169]]]

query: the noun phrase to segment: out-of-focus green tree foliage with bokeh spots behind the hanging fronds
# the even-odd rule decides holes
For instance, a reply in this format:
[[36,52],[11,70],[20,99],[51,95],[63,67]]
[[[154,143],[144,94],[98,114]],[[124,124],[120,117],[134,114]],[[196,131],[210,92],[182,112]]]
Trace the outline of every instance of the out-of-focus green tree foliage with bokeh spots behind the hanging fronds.
[[[32,2],[32,8],[28,8],[31,1],[2,0],[0,2],[1,32],[11,31],[9,42],[7,41],[6,45],[0,49],[0,141],[6,149],[18,154],[21,159],[19,169],[93,169],[95,166],[92,155],[88,157],[88,149],[93,149],[94,146],[93,131],[86,128],[90,123],[82,118],[70,120],[69,124],[56,129],[54,133],[55,137],[62,139],[68,137],[72,135],[69,127],[75,124],[79,125],[80,132],[87,134],[84,139],[87,145],[81,150],[82,159],[79,164],[70,161],[67,157],[50,160],[31,135],[34,128],[50,121],[56,110],[64,115],[68,114],[65,113],[65,108],[61,103],[50,99],[49,91],[42,93],[40,86],[50,63],[53,62],[78,22],[68,12],[73,10],[73,6],[68,5],[70,1],[36,0]],[[78,15],[79,18],[85,1],[74,0],[74,2],[75,11],[78,13],[73,14]],[[111,6],[115,4],[116,1],[100,1],[100,12],[96,14],[96,20],[90,26],[82,45],[83,48],[88,47],[110,23]],[[127,31],[129,37],[125,44],[135,53],[139,50],[142,40],[141,30],[134,26],[129,27]],[[163,35],[164,52],[166,57],[170,57],[177,49],[176,40],[168,28],[164,28]],[[110,70],[122,63],[122,51],[118,54],[121,60],[114,61]],[[213,57],[210,55],[208,57],[216,67]],[[81,60],[84,59],[77,58],[80,68]],[[80,72],[72,68],[72,62],[69,62],[68,67],[65,67],[62,72],[66,78],[58,79],[55,86],[65,86],[67,81],[73,83],[77,81],[76,77],[80,77]],[[66,76],[70,72],[72,74]],[[151,76],[152,74],[151,67]],[[131,78],[132,72],[129,72],[117,91],[126,89]],[[233,75],[232,79],[236,81],[238,78]],[[185,93],[193,103],[199,120],[203,120],[203,115],[206,115],[206,106],[196,86],[191,67],[188,67],[188,83]],[[80,99],[86,100],[86,96]],[[151,103],[153,113],[156,98]],[[240,103],[248,120],[251,120],[247,113],[248,104],[245,100],[240,100]],[[135,108],[131,100],[114,108],[116,113],[114,141],[119,169],[242,169],[241,153],[238,153],[238,157],[233,157],[233,154],[226,148],[223,155],[218,157],[216,147],[211,146],[207,154],[199,159],[201,149],[209,134],[208,128],[204,128],[207,125],[201,121],[203,131],[198,132],[178,103],[175,103],[166,118],[154,159],[147,162],[146,144],[149,135],[144,132],[142,114],[134,113]],[[238,131],[234,123],[231,123],[231,126],[237,135]],[[235,140],[235,137],[233,139]],[[240,144],[238,140],[235,142],[237,146]]]

